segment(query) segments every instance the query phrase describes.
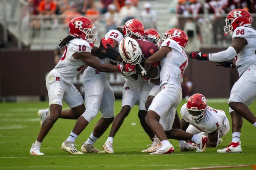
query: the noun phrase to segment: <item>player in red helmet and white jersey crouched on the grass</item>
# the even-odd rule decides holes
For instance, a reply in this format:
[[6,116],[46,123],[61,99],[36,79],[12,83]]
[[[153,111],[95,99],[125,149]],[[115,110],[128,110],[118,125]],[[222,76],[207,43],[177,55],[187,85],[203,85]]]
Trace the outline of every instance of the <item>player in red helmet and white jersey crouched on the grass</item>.
[[222,142],[221,137],[229,132],[229,121],[225,112],[207,106],[206,98],[202,94],[190,96],[181,107],[180,114],[183,130],[208,137],[206,147],[217,147]]

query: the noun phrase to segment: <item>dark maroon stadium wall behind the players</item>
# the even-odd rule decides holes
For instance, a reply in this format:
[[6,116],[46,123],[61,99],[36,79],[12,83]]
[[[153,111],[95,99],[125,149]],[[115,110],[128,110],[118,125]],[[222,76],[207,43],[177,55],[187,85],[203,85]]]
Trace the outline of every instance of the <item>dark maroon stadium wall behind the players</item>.
[[[213,53],[220,50],[222,49],[202,51]],[[53,51],[0,51],[1,95],[48,95],[45,78],[54,67]],[[82,72],[74,79],[74,85],[84,93]],[[232,85],[238,79],[235,69],[217,67],[209,61],[190,59],[184,75],[190,77],[193,93],[202,93],[206,98],[228,98]],[[115,96],[121,97],[124,84],[121,73],[112,74],[109,83]]]

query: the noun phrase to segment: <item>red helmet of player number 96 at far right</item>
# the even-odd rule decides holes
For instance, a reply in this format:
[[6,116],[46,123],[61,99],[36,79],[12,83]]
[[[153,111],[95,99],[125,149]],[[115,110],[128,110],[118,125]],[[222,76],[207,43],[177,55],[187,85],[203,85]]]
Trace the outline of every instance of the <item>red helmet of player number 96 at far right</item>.
[[239,26],[251,27],[251,14],[244,9],[234,9],[228,13],[225,22],[224,36],[227,36],[228,33],[232,35],[232,30],[235,30]]

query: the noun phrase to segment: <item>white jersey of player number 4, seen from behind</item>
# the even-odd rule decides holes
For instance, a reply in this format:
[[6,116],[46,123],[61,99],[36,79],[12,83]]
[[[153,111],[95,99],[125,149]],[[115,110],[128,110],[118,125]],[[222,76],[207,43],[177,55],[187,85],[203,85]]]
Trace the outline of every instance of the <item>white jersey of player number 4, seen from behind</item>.
[[172,51],[160,60],[160,86],[168,83],[178,86],[181,90],[180,83],[183,81],[183,72],[187,68],[187,55],[174,40],[164,40],[161,47],[171,47]]

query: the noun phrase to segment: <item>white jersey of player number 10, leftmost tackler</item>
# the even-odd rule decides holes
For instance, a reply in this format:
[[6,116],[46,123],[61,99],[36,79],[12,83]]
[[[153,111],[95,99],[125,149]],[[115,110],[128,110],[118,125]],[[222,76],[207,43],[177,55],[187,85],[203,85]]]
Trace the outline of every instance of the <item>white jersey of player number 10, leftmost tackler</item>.
[[74,53],[91,52],[90,44],[75,38],[66,44],[66,50],[53,71],[67,84],[73,84],[73,78],[83,69],[85,63],[81,59],[73,58]]

